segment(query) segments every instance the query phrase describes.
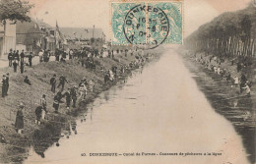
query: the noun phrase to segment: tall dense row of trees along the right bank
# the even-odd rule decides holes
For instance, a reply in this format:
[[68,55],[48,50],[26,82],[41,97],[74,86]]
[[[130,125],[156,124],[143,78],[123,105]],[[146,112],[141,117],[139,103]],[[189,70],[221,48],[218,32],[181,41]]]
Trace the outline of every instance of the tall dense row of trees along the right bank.
[[188,36],[188,49],[222,56],[253,56],[256,50],[256,8],[224,13]]

